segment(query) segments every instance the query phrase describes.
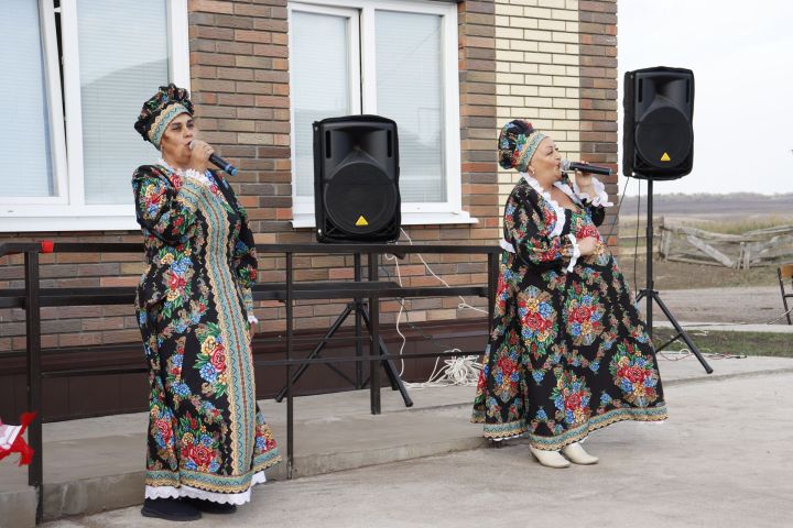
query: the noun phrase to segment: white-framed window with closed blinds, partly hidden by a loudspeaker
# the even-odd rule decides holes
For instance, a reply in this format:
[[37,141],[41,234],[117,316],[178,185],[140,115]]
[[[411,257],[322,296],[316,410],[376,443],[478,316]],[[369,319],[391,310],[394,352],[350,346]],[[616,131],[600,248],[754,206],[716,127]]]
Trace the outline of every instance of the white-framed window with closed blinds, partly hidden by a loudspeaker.
[[314,226],[312,123],[397,121],[403,223],[475,222],[461,210],[455,4],[290,4],[294,226]]

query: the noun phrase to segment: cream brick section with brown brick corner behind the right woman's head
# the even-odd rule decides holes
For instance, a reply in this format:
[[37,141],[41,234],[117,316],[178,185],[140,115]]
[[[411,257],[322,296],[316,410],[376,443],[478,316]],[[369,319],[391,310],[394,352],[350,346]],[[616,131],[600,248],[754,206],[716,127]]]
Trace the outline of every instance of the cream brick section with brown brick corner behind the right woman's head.
[[[524,118],[564,157],[615,164],[616,10],[616,0],[497,0],[498,125]],[[498,178],[503,208],[519,175]],[[616,174],[605,183],[613,195]]]

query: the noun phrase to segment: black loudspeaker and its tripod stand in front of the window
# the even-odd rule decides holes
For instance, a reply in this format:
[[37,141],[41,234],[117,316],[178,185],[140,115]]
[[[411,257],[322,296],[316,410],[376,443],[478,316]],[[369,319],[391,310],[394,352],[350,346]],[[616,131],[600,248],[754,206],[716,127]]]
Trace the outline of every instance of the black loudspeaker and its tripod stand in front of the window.
[[[366,250],[366,242],[395,242],[400,237],[402,218],[397,123],[379,116],[346,116],[316,121],[313,127],[317,241],[360,243],[361,253]],[[378,273],[378,256],[370,253],[369,258],[369,275],[372,279]],[[355,279],[361,280],[360,253],[355,254]],[[372,299],[372,302],[374,301]],[[372,321],[363,299],[356,298],[347,304],[319,344],[308,354],[308,359],[319,356],[325,344],[352,314],[356,354],[361,355],[361,324],[365,323],[371,334]],[[376,348],[380,355],[388,355],[382,338],[378,338]],[[405,407],[413,406],[393,362],[383,359],[379,364],[385,370],[391,388],[402,395]],[[328,363],[327,366],[352,383],[356,388],[362,388],[367,384],[362,380],[360,363],[356,363],[355,381],[332,364]],[[296,383],[306,369],[307,364],[301,365],[292,377],[292,383]],[[286,396],[286,391],[287,386],[284,385],[275,400],[281,402]]]

